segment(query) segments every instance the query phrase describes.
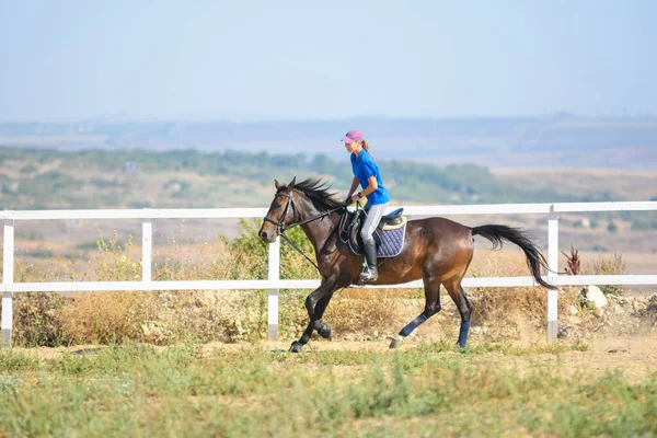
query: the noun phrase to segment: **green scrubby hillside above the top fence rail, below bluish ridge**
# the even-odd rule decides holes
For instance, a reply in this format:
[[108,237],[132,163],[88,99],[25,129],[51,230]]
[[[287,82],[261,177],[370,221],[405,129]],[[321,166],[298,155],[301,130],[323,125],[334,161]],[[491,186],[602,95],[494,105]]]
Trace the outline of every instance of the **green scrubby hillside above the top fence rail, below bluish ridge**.
[[[0,205],[4,209],[263,206],[273,182],[320,175],[344,196],[348,163],[326,154],[234,150],[55,150],[0,147]],[[496,204],[647,200],[657,174],[639,171],[492,172],[473,164],[445,166],[382,160],[395,201]]]

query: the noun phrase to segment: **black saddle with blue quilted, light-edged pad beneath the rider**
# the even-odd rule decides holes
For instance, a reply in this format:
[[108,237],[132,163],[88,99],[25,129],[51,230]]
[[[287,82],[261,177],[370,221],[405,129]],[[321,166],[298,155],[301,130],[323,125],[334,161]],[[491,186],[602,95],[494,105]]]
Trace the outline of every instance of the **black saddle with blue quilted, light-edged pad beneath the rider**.
[[[391,257],[397,255],[404,243],[406,231],[406,217],[404,209],[397,208],[381,217],[372,237],[377,242],[377,252],[379,257]],[[357,209],[349,214],[347,226],[347,240],[355,254],[362,254],[362,238],[360,229],[365,222],[365,210]],[[383,243],[383,245],[382,245]]]

